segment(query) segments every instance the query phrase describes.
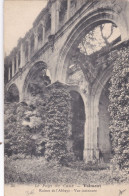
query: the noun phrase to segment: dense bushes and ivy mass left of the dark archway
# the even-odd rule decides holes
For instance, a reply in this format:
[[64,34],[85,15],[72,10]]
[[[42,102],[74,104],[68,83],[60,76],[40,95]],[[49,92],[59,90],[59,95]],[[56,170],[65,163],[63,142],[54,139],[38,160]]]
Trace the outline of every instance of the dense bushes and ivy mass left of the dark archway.
[[63,162],[71,131],[71,96],[60,83],[48,88],[39,85],[37,95],[33,87],[28,104],[5,106],[5,154],[45,153],[47,160]]

